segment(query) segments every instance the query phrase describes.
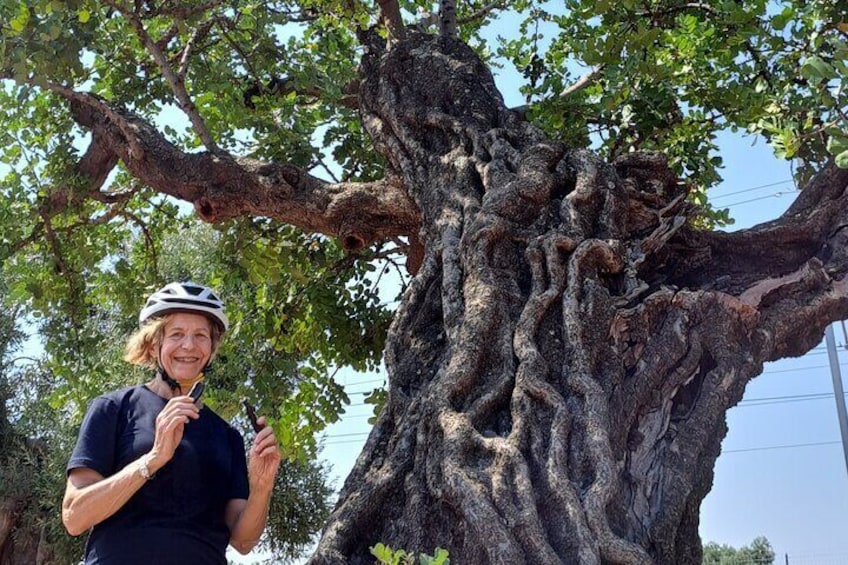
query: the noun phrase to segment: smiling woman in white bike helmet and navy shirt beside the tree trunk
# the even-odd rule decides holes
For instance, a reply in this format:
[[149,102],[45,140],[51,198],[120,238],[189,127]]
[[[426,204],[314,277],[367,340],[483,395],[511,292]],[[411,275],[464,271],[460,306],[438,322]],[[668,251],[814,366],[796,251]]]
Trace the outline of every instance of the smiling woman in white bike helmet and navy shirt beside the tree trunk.
[[248,553],[265,529],[277,440],[259,418],[246,461],[241,435],[187,396],[228,326],[210,289],[169,284],[139,323],[125,359],[157,375],[89,406],[62,521],[71,535],[91,530],[86,564],[226,564],[228,543]]

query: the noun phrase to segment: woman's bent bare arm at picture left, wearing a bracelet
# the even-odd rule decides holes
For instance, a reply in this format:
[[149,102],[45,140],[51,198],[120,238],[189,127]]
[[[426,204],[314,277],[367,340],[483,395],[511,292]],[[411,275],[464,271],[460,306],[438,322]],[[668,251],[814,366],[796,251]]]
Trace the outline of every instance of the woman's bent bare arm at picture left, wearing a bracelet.
[[198,408],[189,397],[172,398],[156,417],[156,438],[150,453],[108,478],[87,467],[72,469],[62,500],[62,523],[68,533],[85,533],[120,510],[147,482],[141,475],[142,461],[146,458],[148,471],[156,473],[174,456],[186,423],[197,418]]

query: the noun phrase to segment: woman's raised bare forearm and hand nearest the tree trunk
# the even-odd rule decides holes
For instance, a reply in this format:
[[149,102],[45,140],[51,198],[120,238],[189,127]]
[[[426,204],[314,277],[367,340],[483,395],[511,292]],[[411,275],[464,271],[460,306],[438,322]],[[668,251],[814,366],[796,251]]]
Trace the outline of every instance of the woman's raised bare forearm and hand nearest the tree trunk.
[[[259,418],[265,425],[265,418]],[[230,528],[230,545],[242,555],[253,549],[268,521],[274,479],[280,468],[280,447],[274,430],[264,427],[253,440],[247,461],[250,495],[247,500],[233,499],[227,503],[224,520]]]

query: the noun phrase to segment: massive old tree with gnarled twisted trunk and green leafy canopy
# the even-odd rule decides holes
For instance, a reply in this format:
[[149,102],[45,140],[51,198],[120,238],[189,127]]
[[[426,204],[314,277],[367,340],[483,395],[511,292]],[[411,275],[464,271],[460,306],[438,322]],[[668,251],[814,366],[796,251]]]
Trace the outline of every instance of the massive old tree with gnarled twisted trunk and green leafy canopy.
[[[257,234],[232,249],[258,279],[287,262],[281,224],[354,262],[404,255],[388,395],[312,563],[370,562],[378,541],[457,563],[699,563],[726,411],[848,313],[841,10],[4,4],[13,286],[84,318],[120,274],[114,234],[168,252],[162,195],[225,242]],[[492,65],[523,73],[526,104]],[[704,198],[728,128],[797,159],[803,187],[734,233]],[[307,315],[276,313],[269,340]]]

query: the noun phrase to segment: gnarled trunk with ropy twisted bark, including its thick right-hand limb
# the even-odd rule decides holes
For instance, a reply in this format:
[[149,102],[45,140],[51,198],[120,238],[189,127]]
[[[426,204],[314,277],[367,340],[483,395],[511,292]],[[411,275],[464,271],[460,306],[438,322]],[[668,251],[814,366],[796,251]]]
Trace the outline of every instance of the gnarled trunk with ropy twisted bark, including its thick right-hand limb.
[[371,563],[378,541],[460,564],[700,563],[726,411],[848,315],[846,171],[770,224],[698,232],[662,156],[545,139],[461,42],[410,33],[362,71],[425,253],[311,563]]

